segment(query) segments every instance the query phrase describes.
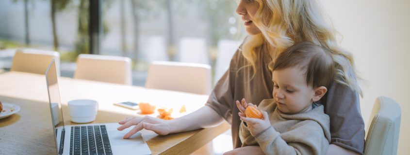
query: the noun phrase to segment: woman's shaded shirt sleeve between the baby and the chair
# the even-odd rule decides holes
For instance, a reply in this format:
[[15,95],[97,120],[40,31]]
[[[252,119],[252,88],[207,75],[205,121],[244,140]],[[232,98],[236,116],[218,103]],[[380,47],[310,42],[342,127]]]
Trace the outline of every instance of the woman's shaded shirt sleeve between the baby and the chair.
[[318,103],[330,118],[331,144],[362,154],[365,132],[359,93],[335,82],[326,94]]

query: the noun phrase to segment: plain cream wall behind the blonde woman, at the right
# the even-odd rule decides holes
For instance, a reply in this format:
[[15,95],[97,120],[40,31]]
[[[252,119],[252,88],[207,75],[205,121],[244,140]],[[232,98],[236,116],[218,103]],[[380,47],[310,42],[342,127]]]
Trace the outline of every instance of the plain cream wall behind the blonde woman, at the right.
[[343,35],[341,45],[354,54],[366,80],[361,99],[366,125],[378,96],[400,104],[398,155],[405,155],[410,152],[410,1],[322,0],[322,4]]

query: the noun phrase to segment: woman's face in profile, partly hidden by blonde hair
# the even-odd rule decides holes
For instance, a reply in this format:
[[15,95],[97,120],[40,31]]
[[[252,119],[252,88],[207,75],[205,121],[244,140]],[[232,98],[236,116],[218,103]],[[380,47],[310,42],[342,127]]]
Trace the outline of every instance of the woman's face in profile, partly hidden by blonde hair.
[[261,30],[252,22],[258,9],[259,3],[255,0],[241,0],[236,8],[236,13],[242,16],[246,32],[249,35],[261,33]]

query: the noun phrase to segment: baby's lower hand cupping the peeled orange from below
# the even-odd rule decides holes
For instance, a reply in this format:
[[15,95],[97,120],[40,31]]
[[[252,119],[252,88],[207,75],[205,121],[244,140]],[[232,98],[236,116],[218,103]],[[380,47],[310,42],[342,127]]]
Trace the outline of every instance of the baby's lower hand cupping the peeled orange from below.
[[268,113],[266,113],[265,111],[261,112],[263,115],[263,119],[248,118],[244,116],[241,116],[240,118],[242,121],[246,122],[247,128],[252,136],[256,136],[263,130],[272,126],[269,121]]

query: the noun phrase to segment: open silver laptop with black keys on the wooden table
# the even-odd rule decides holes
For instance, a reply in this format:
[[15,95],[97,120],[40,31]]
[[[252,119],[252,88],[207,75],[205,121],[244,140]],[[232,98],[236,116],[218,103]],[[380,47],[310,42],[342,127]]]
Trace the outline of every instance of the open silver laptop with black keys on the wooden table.
[[140,132],[123,139],[130,130],[118,131],[118,123],[64,125],[54,60],[46,71],[46,80],[54,129],[50,136],[55,137],[58,155],[151,155]]

